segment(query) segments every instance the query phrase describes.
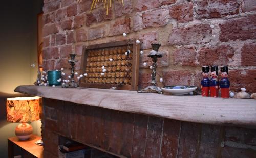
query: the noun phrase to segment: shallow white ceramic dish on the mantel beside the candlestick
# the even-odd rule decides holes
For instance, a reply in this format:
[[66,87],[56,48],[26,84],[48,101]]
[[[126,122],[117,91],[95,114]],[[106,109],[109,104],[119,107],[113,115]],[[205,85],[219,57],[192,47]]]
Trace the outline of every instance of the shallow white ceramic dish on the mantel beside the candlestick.
[[197,89],[196,86],[164,86],[162,87],[163,92],[174,95],[186,95],[189,92],[193,92]]

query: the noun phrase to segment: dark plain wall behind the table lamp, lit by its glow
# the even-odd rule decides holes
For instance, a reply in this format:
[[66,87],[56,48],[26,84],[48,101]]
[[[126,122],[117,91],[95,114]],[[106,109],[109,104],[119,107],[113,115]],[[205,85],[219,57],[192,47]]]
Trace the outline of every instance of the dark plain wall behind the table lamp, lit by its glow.
[[[7,138],[15,136],[17,126],[6,122],[6,98],[24,96],[13,90],[33,83],[36,77],[30,64],[37,60],[37,14],[42,5],[43,0],[3,1],[0,5],[0,157],[8,157]],[[37,133],[38,122],[32,126]]]

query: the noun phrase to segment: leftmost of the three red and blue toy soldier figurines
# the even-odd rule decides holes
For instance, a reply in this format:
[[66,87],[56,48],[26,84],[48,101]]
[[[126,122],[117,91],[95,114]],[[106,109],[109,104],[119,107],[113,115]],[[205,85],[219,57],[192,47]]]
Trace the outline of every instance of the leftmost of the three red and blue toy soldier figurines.
[[210,80],[208,76],[209,76],[210,67],[203,66],[202,70],[203,70],[203,80],[201,81],[202,96],[209,96]]

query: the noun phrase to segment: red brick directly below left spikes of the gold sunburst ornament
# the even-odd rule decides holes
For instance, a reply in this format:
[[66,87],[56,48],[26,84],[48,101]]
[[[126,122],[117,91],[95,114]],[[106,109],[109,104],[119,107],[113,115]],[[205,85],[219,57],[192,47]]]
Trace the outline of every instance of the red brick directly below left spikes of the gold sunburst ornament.
[[92,11],[92,13],[86,14],[86,25],[91,25],[92,23],[99,23],[106,20],[112,20],[112,10],[109,10],[108,15],[104,8]]

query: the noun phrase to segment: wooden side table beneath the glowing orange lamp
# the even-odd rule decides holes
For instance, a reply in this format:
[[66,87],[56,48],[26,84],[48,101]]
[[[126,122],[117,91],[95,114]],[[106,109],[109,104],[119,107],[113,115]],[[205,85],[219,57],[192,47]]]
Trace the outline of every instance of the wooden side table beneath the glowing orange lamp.
[[8,138],[8,157],[21,155],[22,157],[42,157],[42,146],[35,142],[41,137],[32,135],[28,140],[19,140],[17,137]]

